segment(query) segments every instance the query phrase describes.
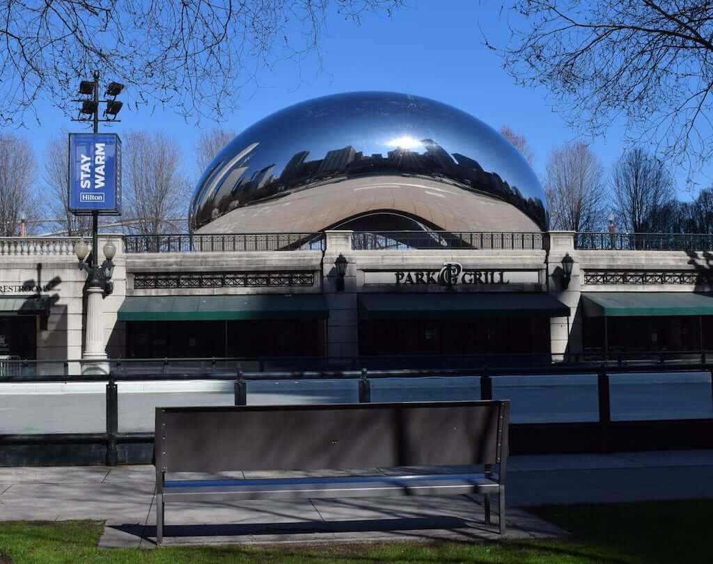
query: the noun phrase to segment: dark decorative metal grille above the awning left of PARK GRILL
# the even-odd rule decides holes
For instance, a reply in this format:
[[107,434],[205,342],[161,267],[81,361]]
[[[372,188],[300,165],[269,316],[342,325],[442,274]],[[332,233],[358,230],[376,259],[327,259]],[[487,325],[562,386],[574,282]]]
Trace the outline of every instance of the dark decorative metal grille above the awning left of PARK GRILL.
[[314,286],[314,272],[162,272],[135,274],[134,289]]

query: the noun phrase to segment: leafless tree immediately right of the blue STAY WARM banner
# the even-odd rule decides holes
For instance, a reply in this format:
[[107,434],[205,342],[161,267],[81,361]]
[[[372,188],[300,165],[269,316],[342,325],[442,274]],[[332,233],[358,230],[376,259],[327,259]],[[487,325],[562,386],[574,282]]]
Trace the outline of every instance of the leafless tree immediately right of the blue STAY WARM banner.
[[165,133],[137,131],[125,135],[123,151],[122,211],[131,232],[185,231],[190,185],[175,141]]

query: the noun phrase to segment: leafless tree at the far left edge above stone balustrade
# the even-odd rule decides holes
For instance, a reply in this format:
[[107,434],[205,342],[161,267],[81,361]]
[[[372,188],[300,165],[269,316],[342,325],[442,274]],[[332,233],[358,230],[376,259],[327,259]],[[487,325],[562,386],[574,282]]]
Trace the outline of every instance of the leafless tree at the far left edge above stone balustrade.
[[[36,161],[30,144],[17,135],[0,133],[0,235],[18,235],[22,215],[37,217],[39,195],[34,180]],[[28,225],[32,225],[29,223]]]

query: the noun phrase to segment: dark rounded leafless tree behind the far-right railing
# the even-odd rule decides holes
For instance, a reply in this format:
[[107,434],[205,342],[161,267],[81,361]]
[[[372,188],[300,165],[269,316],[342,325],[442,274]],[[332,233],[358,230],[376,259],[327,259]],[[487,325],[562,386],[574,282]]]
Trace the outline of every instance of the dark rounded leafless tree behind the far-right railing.
[[664,163],[642,148],[622,155],[612,171],[617,227],[635,233],[665,230],[674,182]]

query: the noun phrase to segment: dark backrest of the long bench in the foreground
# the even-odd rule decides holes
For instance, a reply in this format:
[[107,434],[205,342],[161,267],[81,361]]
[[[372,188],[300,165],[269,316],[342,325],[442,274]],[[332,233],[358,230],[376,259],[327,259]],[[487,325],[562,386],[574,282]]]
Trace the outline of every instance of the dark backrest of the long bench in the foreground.
[[499,464],[508,411],[507,401],[159,407],[155,465],[218,472]]

